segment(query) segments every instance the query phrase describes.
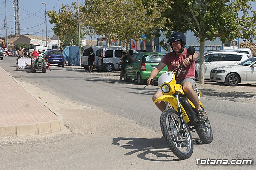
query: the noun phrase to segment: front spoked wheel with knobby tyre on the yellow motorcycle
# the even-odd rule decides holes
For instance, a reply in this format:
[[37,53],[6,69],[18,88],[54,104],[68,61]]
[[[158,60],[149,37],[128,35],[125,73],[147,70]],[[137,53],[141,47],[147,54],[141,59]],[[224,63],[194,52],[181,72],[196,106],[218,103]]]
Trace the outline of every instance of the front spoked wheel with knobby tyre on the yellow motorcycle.
[[165,109],[160,118],[162,134],[170,150],[180,159],[188,159],[193,153],[193,140],[188,125],[185,130],[178,113],[173,109]]

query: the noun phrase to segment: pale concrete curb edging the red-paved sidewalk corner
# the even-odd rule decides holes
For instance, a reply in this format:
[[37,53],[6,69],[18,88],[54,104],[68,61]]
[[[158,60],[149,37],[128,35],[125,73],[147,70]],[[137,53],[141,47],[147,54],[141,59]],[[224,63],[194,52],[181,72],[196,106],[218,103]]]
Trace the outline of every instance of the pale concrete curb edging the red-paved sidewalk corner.
[[[18,83],[24,90],[26,90],[19,81],[17,81],[12,75],[10,75],[7,71],[5,71],[2,67],[0,67],[5,73],[7,73],[16,83]],[[26,90],[27,91],[27,90]],[[37,101],[42,103],[44,107],[49,109],[54,115],[57,116],[56,119],[52,119],[51,121],[46,122],[38,122],[38,123],[30,123],[30,124],[21,124],[21,125],[6,125],[0,126],[0,137],[6,136],[30,136],[30,135],[38,135],[38,134],[50,134],[52,132],[60,132],[63,130],[64,121],[62,115],[60,115],[54,109],[50,109],[47,107],[42,101],[40,101],[36,96],[27,91],[30,95],[32,95]]]

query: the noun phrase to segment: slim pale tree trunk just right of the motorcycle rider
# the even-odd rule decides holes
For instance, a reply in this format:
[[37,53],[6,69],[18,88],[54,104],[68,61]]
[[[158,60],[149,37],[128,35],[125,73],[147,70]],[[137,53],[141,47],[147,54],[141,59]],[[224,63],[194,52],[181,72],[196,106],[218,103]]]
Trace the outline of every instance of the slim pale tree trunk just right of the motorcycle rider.
[[202,83],[202,84],[204,84],[204,45],[205,45],[205,39],[200,38],[199,83]]

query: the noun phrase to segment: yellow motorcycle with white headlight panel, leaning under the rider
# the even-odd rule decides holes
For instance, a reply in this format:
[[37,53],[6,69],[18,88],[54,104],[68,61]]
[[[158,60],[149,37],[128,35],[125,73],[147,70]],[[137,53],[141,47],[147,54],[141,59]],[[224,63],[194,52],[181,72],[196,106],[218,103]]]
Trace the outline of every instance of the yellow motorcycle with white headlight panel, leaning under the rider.
[[[194,55],[194,47],[188,48],[188,53]],[[160,125],[164,139],[170,150],[180,159],[188,159],[193,153],[193,140],[190,131],[196,130],[200,140],[205,144],[212,142],[212,128],[207,118],[203,122],[198,122],[198,115],[194,104],[186,97],[182,86],[176,84],[175,77],[184,65],[173,71],[167,71],[158,78],[158,85],[162,90],[163,96],[154,101],[164,101],[166,109],[160,117]],[[176,71],[176,74],[174,72]],[[155,83],[152,80],[150,84]],[[195,89],[198,99],[202,93]],[[203,109],[202,103],[199,101]]]

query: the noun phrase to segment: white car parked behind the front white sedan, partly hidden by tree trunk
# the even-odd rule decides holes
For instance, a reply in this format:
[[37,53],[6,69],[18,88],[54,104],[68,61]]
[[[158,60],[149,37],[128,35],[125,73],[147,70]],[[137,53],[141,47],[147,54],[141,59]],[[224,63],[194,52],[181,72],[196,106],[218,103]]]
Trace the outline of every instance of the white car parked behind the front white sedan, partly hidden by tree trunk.
[[[248,54],[217,51],[204,55],[204,78],[210,79],[210,71],[215,67],[226,65],[236,65],[248,59]],[[199,58],[196,60],[195,73],[196,79],[199,75]]]

